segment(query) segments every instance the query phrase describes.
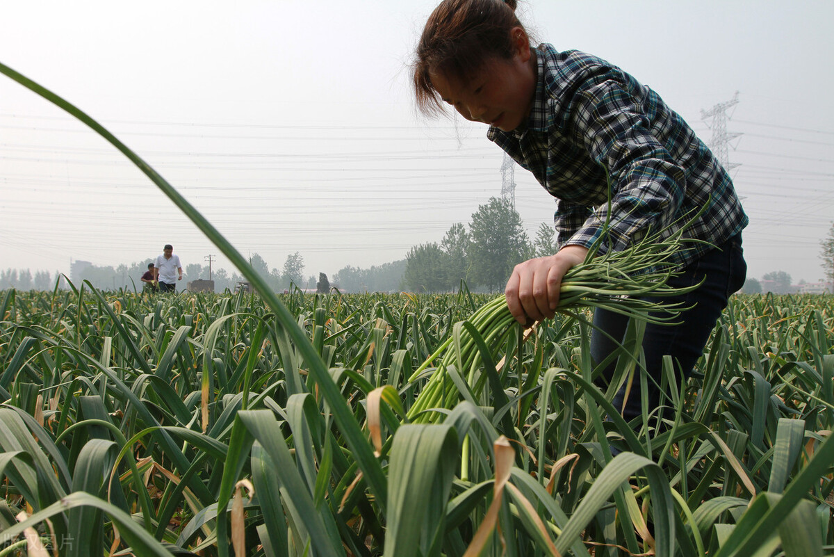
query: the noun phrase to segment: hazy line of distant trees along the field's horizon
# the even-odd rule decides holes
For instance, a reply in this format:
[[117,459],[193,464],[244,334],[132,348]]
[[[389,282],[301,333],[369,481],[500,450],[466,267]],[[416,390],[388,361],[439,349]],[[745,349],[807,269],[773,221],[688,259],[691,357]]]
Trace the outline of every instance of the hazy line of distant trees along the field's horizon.
[[[517,263],[533,257],[555,253],[554,228],[541,223],[535,238],[528,238],[521,217],[511,203],[501,198],[490,198],[472,214],[468,226],[453,224],[444,238],[437,242],[420,243],[409,250],[404,259],[391,263],[359,268],[347,265],[331,278],[319,273],[304,277],[304,258],[299,252],[287,256],[282,268],[269,268],[269,264],[258,253],[249,259],[252,268],[266,280],[275,292],[297,286],[301,289],[316,289],[327,292],[330,287],[340,292],[450,292],[460,289],[464,281],[470,289],[496,291],[504,288],[510,273]],[[821,241],[821,261],[829,282],[834,282],[834,226],[828,237]],[[97,289],[141,289],[139,278],[148,269],[146,259],[131,264],[113,266],[91,265],[83,269],[80,284],[88,280]],[[208,266],[188,263],[184,268],[184,280],[208,279]],[[236,270],[229,273],[224,268],[212,268],[214,291],[233,290],[244,280]],[[62,274],[55,271],[28,268],[0,270],[0,289],[49,290],[67,288]],[[802,281],[800,281],[802,284]],[[184,288],[183,284],[183,288]],[[748,278],[741,292],[757,294],[762,292],[792,294],[796,287],[791,284],[791,275],[784,271],[766,273],[761,279]]]

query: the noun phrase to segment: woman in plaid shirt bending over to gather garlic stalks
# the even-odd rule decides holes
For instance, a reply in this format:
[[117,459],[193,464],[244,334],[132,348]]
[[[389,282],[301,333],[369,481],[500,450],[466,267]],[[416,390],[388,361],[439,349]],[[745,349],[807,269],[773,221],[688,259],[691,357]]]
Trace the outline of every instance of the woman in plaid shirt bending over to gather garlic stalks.
[[[448,104],[487,124],[487,137],[557,199],[558,252],[516,265],[506,285],[507,305],[522,324],[555,315],[561,278],[598,238],[600,253],[620,250],[650,228],[676,233],[686,215],[701,211],[684,236],[705,243],[687,243],[674,255],[681,273],[669,284],[703,283],[666,299],[692,309],[681,314],[681,324],[649,324],[643,339],[651,414],[661,404],[663,357],[671,355],[686,378],[727,299],[744,284],[746,214],[725,168],[657,93],[590,54],[547,43],[532,48],[515,7],[515,0],[440,3],[416,48],[417,105],[432,115]],[[596,363],[612,354],[627,323],[596,310]],[[610,379],[614,369],[610,364],[602,376]],[[628,420],[641,415],[635,384],[613,400]]]

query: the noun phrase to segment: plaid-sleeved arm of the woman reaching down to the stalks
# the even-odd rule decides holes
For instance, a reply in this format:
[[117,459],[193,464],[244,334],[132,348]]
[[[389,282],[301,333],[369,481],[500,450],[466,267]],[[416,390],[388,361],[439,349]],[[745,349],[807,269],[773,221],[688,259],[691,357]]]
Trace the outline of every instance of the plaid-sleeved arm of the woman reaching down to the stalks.
[[660,98],[638,98],[610,74],[597,75],[570,103],[570,126],[575,141],[605,169],[610,188],[610,214],[608,203],[593,208],[570,243],[590,246],[607,223],[603,251],[620,250],[649,228],[675,220],[686,196],[686,174],[670,149],[696,150],[697,139]]

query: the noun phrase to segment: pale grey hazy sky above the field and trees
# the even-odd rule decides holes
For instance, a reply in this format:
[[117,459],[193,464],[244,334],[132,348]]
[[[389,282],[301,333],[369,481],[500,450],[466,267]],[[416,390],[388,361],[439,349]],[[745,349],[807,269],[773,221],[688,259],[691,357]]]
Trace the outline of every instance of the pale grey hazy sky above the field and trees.
[[[435,0],[4,2],[0,62],[96,118],[244,256],[305,274],[404,258],[501,191],[486,127],[414,111],[408,64]],[[834,221],[831,0],[521,2],[540,42],[607,59],[711,140],[727,131],[749,276],[816,281]],[[516,167],[530,237],[553,198]],[[0,75],[0,268],[68,273],[173,243],[219,255],[127,158]],[[215,265],[229,268],[220,256]]]

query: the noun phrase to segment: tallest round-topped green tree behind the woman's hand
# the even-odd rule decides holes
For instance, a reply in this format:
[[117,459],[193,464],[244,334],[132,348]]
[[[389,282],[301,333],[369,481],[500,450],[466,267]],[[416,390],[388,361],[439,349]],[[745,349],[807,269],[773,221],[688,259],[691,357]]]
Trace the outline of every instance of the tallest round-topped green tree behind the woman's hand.
[[475,284],[503,289],[528,250],[521,217],[509,201],[490,198],[472,214],[469,258]]

